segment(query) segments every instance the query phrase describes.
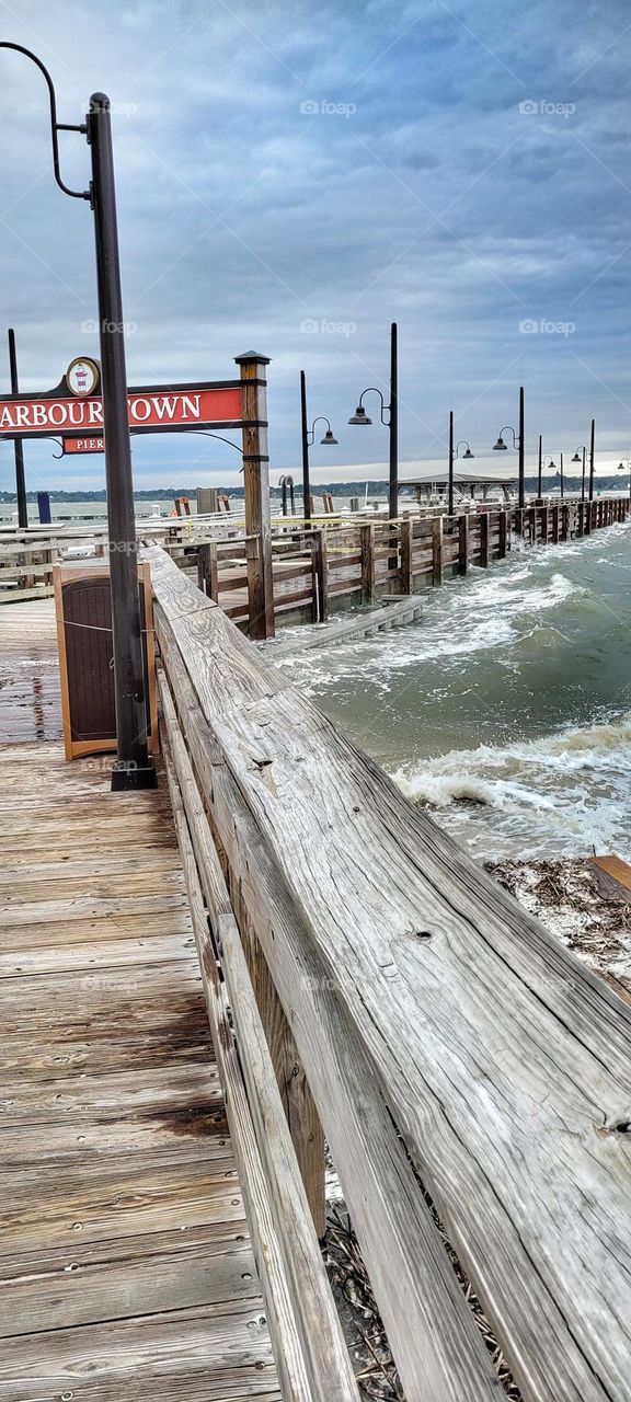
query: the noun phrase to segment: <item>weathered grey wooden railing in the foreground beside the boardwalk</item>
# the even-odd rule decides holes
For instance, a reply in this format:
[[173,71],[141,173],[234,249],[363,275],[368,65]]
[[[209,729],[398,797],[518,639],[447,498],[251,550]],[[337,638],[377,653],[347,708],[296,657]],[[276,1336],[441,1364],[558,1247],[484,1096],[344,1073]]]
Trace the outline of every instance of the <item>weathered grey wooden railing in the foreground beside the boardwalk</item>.
[[419,1178],[524,1402],[628,1399],[631,1009],[164,551],[147,558],[175,820],[286,1398],[353,1392],[258,1016],[320,1232],[317,1106],[408,1402],[502,1395]]

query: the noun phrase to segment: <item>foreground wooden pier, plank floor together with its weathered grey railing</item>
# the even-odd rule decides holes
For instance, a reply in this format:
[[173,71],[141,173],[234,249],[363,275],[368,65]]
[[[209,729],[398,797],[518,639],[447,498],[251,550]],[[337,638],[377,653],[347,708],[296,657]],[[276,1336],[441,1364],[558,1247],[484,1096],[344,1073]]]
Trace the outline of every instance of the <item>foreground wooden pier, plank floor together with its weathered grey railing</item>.
[[144,558],[157,792],[0,611],[1,1402],[359,1402],[324,1141],[407,1402],[628,1402],[631,1007]]

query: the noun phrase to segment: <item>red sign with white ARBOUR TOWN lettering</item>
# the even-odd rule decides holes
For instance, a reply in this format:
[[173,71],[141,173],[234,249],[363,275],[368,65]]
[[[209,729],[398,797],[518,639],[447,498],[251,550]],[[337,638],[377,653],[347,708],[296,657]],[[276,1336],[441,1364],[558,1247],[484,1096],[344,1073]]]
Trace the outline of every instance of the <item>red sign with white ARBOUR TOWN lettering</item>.
[[[181,384],[164,390],[130,390],[129,428],[156,433],[168,429],[230,428],[243,422],[241,388]],[[20,395],[0,400],[0,437],[102,433],[102,400],[95,395]],[[74,449],[72,451],[86,451]]]

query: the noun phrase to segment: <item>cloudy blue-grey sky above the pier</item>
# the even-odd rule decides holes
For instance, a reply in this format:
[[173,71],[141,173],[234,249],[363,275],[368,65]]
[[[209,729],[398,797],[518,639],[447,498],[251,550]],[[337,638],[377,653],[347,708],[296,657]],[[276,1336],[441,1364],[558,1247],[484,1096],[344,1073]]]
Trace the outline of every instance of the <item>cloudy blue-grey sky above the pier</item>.
[[[625,0],[0,11],[1,38],[49,66],[60,121],[111,97],[130,384],[231,377],[254,346],[272,358],[272,481],[300,461],[300,369],[339,439],[314,449],[314,478],[380,475],[376,397],[373,428],[346,421],[366,386],[387,394],[395,320],[411,468],[443,461],[452,407],[484,458],[519,384],[529,463],[540,432],[571,456],[592,415],[602,463],[630,451]],[[1,328],[22,387],[49,388],[98,355],[91,215],[53,182],[43,80],[17,55],[0,72]],[[81,136],[63,136],[62,167],[84,186]],[[139,486],[238,479],[230,449],[194,436],[137,437],[133,461]],[[32,488],[104,485],[102,458],[46,444],[27,467]]]

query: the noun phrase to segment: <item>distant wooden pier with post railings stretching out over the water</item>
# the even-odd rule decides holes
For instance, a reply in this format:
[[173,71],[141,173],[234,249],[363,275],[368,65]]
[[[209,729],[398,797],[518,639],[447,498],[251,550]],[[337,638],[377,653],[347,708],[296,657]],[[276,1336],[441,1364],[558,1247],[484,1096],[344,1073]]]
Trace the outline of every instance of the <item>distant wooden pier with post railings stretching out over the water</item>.
[[[252,638],[266,638],[283,624],[324,622],[339,608],[373,604],[384,596],[414,594],[453,575],[502,561],[512,543],[558,545],[627,520],[627,496],[582,502],[576,498],[517,508],[484,508],[456,516],[428,510],[397,522],[363,517],[301,522],[276,520],[271,537],[247,531],[243,522],[185,517],[143,526],[139,537],[156,540],[229,618]],[[107,551],[107,533],[94,527],[74,538],[55,531],[0,533],[0,603],[39,597],[50,589],[55,561],[70,550]],[[264,552],[269,559],[264,561]],[[261,572],[272,585],[273,610],[261,615]],[[273,614],[273,629],[272,629]]]

